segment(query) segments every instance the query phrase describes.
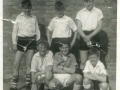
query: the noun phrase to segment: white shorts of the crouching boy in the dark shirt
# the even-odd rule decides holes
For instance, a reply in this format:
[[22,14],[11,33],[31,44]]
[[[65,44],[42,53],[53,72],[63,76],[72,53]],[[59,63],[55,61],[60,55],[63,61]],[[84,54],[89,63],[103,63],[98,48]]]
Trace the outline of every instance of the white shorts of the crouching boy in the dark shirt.
[[64,87],[66,87],[66,83],[71,77],[70,74],[54,74],[54,78],[58,79]]

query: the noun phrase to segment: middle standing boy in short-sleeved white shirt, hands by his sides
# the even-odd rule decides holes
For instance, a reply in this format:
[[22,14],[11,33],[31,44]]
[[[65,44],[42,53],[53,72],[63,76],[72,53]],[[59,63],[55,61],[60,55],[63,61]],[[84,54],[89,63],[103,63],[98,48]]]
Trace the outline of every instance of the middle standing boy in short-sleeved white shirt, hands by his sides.
[[[72,48],[77,36],[76,24],[70,17],[64,15],[64,9],[64,4],[61,1],[55,3],[55,10],[58,15],[51,20],[47,30],[48,42],[54,54],[59,51],[59,42],[68,42]],[[72,40],[71,30],[74,32]],[[52,40],[50,33],[52,33]]]

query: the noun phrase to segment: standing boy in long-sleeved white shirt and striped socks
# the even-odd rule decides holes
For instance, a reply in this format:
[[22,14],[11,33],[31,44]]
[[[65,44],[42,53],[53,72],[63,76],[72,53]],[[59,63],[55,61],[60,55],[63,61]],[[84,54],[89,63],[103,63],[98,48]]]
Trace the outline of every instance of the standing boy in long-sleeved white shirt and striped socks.
[[12,33],[13,50],[16,52],[16,56],[13,69],[13,83],[10,90],[17,90],[19,67],[24,52],[27,54],[26,86],[30,84],[31,59],[34,54],[34,50],[36,49],[36,40],[40,39],[40,31],[36,17],[31,15],[31,1],[23,0],[21,4],[23,12],[17,16],[17,23],[14,24]]

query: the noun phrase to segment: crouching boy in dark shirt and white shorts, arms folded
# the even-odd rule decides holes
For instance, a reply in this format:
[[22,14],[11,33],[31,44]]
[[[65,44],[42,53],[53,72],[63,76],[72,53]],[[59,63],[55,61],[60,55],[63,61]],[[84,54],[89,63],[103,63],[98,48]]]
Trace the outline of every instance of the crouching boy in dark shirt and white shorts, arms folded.
[[73,90],[81,90],[82,76],[75,74],[77,63],[75,56],[69,52],[70,45],[65,42],[59,46],[59,49],[60,52],[54,56],[54,78],[50,81],[49,88],[60,89],[74,84]]

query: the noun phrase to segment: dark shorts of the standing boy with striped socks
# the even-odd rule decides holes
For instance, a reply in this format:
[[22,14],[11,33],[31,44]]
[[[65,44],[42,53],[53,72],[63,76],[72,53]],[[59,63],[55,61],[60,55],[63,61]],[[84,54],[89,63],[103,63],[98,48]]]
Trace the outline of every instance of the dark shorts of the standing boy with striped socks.
[[33,37],[19,37],[17,41],[17,50],[18,51],[26,51],[26,50],[35,50],[36,49],[36,36]]

